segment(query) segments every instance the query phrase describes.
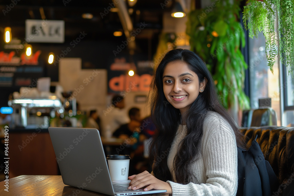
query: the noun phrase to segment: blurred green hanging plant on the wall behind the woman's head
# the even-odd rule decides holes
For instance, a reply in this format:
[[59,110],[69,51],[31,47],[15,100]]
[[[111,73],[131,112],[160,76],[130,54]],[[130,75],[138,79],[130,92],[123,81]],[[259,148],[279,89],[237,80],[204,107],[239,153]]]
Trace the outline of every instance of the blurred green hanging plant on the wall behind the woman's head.
[[226,108],[249,108],[244,79],[247,64],[240,51],[245,46],[245,33],[236,18],[238,1],[220,1],[206,16],[204,10],[188,14],[186,33],[190,36],[191,51],[196,52],[211,71],[221,101]]

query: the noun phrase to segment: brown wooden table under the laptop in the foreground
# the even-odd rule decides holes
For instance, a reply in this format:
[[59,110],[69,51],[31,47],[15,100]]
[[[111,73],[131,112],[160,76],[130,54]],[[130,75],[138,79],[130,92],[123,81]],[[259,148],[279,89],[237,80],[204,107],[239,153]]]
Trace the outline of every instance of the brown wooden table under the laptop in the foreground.
[[[9,179],[9,192],[5,191],[5,182],[0,182],[0,195],[71,195],[91,196],[101,193],[79,190],[63,183],[60,175],[21,175]],[[168,194],[156,194],[168,195]]]

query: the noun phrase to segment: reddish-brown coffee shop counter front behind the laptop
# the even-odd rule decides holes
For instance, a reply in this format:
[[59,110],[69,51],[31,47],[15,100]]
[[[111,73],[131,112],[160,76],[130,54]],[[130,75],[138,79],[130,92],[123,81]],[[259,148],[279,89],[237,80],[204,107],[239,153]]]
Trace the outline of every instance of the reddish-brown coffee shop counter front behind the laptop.
[[[10,129],[8,131],[9,178],[19,175],[59,175],[56,156],[48,129]],[[1,152],[7,137],[1,134]],[[5,140],[6,139],[6,140]],[[6,141],[6,143],[5,143]],[[4,158],[1,158],[2,166]]]

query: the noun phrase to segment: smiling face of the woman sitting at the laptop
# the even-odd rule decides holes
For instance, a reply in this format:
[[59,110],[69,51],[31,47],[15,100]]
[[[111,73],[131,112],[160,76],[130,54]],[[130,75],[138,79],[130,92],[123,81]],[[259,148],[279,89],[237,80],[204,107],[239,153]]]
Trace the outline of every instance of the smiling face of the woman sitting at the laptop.
[[199,83],[198,76],[191,71],[186,63],[172,61],[163,71],[163,93],[173,107],[180,110],[181,114],[190,108],[199,93],[204,90],[206,80]]

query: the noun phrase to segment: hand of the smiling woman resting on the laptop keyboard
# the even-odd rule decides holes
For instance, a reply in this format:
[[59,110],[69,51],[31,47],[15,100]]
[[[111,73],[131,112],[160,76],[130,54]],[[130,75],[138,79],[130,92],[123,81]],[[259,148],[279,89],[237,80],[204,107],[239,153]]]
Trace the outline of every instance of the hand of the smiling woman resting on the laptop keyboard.
[[144,191],[151,189],[166,189],[167,194],[171,194],[173,192],[170,184],[158,180],[147,171],[144,171],[138,175],[129,176],[128,179],[131,180],[130,187],[128,187],[128,189],[137,190],[142,187],[146,187],[144,188]]

